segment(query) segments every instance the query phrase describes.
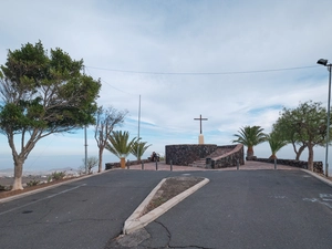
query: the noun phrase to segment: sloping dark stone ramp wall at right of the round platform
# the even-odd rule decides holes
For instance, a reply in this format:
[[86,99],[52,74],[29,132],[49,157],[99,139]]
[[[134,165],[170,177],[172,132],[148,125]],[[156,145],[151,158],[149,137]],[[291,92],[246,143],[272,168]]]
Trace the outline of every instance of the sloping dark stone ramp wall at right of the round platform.
[[216,158],[207,158],[207,165],[210,163],[211,168],[226,168],[226,167],[234,167],[237,166],[238,162],[239,165],[245,164],[245,153],[243,153],[243,145],[226,145],[226,146],[218,146],[218,148],[229,148],[230,152],[216,157]]

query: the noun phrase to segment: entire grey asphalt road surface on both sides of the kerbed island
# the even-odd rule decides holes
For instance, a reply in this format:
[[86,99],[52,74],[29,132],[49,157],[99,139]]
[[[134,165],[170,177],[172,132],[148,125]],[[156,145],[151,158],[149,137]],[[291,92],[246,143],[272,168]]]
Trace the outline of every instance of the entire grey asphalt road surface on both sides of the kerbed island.
[[[162,178],[114,170],[0,205],[0,248],[116,248]],[[301,170],[190,172],[210,183],[143,231],[135,248],[331,248],[332,188]],[[125,248],[118,246],[120,248]]]

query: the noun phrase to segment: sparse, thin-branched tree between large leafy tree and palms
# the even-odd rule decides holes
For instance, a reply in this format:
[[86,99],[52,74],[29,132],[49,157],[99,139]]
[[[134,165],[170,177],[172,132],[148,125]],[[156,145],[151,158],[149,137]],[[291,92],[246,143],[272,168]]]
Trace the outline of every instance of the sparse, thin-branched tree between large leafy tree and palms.
[[96,112],[94,138],[98,146],[98,172],[103,169],[103,152],[107,145],[107,138],[114,127],[123,124],[126,114],[127,111],[120,112],[112,106],[108,108],[100,106]]

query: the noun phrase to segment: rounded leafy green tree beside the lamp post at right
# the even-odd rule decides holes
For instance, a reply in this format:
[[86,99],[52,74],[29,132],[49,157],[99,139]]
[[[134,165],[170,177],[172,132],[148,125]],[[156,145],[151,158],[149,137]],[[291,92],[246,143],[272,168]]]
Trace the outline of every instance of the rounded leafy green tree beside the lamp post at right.
[[281,127],[289,131],[286,133],[287,139],[308,147],[308,168],[313,170],[313,147],[325,146],[326,143],[326,108],[319,102],[309,101],[300,103],[297,108],[284,107],[280,115],[276,125],[281,123],[284,125]]

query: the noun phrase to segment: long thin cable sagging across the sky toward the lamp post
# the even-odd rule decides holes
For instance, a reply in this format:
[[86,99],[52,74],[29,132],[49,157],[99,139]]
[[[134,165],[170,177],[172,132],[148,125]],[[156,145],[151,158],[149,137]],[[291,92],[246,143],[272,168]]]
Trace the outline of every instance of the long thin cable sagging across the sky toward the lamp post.
[[268,70],[252,70],[252,71],[232,71],[232,72],[148,72],[148,71],[132,71],[132,70],[116,70],[116,69],[105,69],[97,66],[86,66],[94,70],[111,71],[117,73],[132,73],[132,74],[155,74],[155,75],[227,75],[227,74],[248,74],[248,73],[270,73],[270,72],[281,72],[281,71],[293,71],[293,70],[304,70],[318,68],[319,65],[305,65],[295,68],[283,68],[283,69],[268,69]]

